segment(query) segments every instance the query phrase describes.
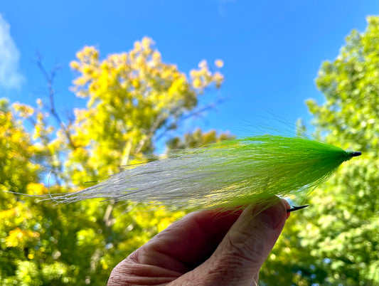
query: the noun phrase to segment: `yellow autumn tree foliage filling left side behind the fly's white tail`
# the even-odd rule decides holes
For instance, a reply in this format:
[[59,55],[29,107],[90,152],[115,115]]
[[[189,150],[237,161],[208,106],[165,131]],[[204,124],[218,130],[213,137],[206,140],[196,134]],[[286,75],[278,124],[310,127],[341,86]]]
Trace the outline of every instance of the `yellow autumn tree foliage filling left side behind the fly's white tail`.
[[[223,82],[205,60],[188,78],[162,61],[151,38],[104,60],[85,47],[71,67],[78,73],[73,91],[87,108],[63,122],[54,105],[55,70],[47,73],[41,59],[38,66],[48,102],[1,103],[2,191],[75,191],[146,161],[154,157],[156,140],[203,110],[198,97]],[[119,261],[183,215],[100,199],[65,205],[5,192],[0,198],[0,285],[105,285]]]

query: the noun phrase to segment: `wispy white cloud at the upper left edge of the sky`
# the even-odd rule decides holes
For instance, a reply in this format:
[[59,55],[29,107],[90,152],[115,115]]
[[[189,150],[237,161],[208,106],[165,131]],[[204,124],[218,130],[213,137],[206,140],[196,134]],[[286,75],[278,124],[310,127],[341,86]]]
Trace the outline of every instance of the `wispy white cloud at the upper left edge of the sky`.
[[25,79],[18,72],[20,53],[10,33],[9,23],[0,14],[0,89],[21,88]]

